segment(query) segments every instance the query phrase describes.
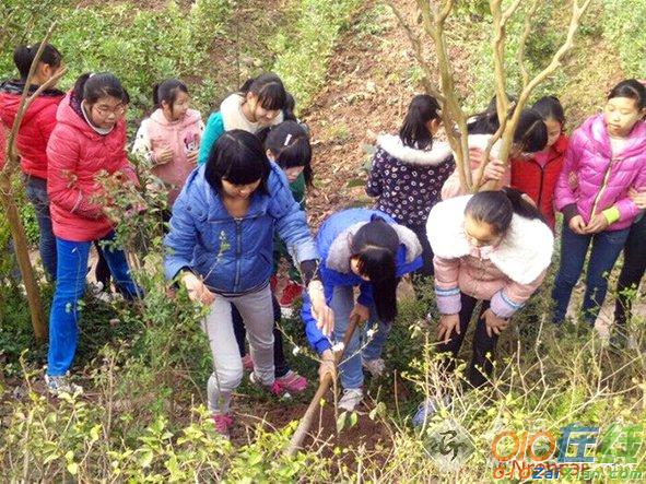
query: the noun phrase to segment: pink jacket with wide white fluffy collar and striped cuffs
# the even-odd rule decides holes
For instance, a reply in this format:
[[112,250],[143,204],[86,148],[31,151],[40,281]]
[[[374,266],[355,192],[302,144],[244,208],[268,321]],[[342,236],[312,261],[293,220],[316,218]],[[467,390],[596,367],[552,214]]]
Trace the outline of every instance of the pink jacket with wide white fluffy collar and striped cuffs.
[[465,293],[491,300],[496,316],[509,318],[541,285],[552,260],[554,237],[543,222],[514,215],[497,246],[471,247],[465,234],[465,209],[471,197],[445,200],[428,215],[437,308],[443,315],[458,314],[460,293]]

